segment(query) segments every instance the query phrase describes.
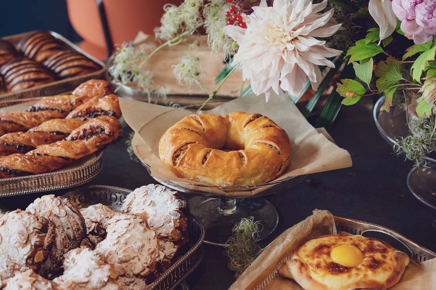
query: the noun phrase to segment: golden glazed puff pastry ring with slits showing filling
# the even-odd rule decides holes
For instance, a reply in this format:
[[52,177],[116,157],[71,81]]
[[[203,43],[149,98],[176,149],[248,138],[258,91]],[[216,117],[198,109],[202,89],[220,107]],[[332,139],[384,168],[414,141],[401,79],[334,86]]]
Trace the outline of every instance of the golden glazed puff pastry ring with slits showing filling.
[[266,116],[243,112],[186,116],[159,142],[160,160],[177,177],[217,186],[271,181],[286,169],[290,153],[285,130]]

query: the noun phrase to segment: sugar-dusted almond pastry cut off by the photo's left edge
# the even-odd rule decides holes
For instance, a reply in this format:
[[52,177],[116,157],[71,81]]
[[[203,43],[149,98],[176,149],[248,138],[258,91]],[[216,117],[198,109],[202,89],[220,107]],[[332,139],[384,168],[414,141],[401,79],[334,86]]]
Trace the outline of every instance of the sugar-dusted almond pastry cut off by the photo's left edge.
[[54,228],[48,219],[19,209],[0,217],[0,285],[16,271],[40,270],[50,254]]

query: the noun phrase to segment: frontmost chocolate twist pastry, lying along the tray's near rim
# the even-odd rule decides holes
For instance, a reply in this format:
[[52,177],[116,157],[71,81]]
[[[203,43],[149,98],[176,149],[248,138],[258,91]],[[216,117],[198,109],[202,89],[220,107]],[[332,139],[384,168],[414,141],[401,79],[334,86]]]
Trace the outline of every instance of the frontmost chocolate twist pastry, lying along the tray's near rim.
[[99,116],[73,130],[63,141],[41,145],[26,154],[0,157],[0,178],[54,171],[115,142],[121,125],[112,116]]

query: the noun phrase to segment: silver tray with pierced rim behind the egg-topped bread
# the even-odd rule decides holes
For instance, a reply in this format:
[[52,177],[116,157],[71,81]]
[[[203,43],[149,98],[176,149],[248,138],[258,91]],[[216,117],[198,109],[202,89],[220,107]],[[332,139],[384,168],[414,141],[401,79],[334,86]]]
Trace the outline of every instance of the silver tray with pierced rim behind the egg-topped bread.
[[389,235],[402,243],[407,249],[409,249],[409,257],[416,263],[424,262],[429,259],[436,258],[436,253],[419,246],[415,242],[407,239],[405,236],[400,235],[398,232],[392,229],[385,228],[381,225],[372,224],[370,222],[356,221],[350,218],[334,217],[334,222],[337,231],[347,232],[351,235],[364,235],[368,232],[380,232],[385,235]]

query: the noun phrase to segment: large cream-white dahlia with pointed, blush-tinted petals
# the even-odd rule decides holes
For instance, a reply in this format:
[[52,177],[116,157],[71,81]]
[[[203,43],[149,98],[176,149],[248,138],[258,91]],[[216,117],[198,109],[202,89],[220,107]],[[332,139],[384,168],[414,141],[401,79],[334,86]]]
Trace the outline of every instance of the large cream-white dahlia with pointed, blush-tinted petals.
[[334,9],[318,13],[326,7],[327,0],[274,0],[272,7],[262,0],[252,14],[242,14],[247,28],[224,28],[239,45],[233,64],[241,66],[256,95],[265,92],[268,100],[273,90],[279,96],[283,91],[298,96],[307,77],[317,90],[322,78],[318,65],[334,68],[327,58],[341,53],[315,38],[329,37],[341,27],[332,17]]

